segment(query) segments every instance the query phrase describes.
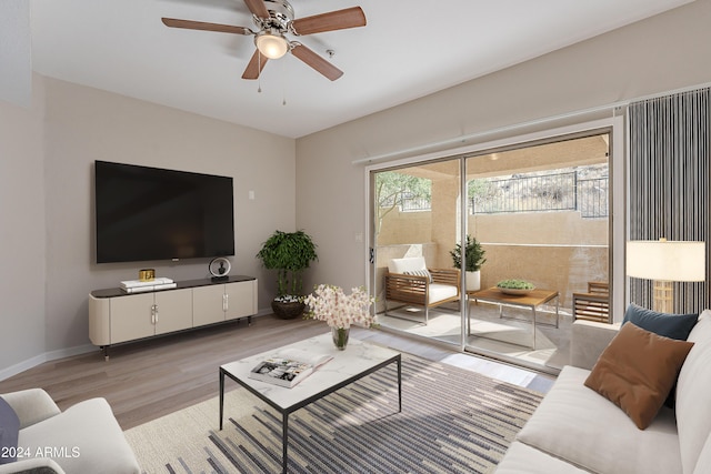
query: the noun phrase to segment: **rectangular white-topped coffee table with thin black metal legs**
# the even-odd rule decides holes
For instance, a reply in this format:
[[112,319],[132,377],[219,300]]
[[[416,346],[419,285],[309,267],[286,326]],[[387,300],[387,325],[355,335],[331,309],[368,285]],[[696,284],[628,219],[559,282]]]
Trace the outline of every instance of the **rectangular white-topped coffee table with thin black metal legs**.
[[[331,354],[333,359],[291,389],[249,377],[249,372],[259,362],[287,347],[313,351],[319,354]],[[338,351],[333,346],[331,333],[328,333],[283,347],[266,351],[240,361],[230,362],[229,364],[220,366],[220,430],[222,430],[224,415],[224,377],[228,376],[281,413],[281,441],[283,445],[282,472],[286,473],[289,414],[393,362],[398,365],[398,412],[401,412],[402,359],[399,352],[391,349],[350,339],[346,351]]]

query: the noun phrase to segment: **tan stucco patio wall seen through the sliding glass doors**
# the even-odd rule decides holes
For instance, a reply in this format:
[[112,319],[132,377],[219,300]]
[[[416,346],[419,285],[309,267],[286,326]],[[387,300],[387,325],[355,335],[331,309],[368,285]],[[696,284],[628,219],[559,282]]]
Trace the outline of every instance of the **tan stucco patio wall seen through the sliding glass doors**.
[[[444,220],[439,214],[388,214],[378,235],[378,281],[391,255],[402,256],[412,248],[427,249],[422,254],[429,266],[452,266],[449,251],[455,242],[455,212]],[[573,292],[587,291],[589,281],[608,281],[608,226],[607,219],[581,219],[577,211],[470,216],[469,233],[487,251],[482,288],[503,279],[524,279],[541,289],[558,290],[561,307],[570,309]],[[450,242],[435,241],[438,235],[451,235]]]

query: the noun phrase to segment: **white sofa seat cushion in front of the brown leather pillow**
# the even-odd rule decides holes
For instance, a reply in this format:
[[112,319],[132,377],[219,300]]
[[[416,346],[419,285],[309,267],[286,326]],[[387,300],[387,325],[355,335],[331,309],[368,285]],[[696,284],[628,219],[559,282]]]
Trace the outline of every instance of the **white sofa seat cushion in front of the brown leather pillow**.
[[583,385],[590,371],[564,366],[517,440],[598,473],[681,473],[677,424],[662,407],[644,431]]

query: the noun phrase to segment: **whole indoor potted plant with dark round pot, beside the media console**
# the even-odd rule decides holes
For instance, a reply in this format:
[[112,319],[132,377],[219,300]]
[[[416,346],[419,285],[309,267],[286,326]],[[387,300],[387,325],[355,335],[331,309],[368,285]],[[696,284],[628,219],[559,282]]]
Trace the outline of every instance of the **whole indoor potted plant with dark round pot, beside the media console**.
[[257,258],[266,269],[277,270],[278,295],[271,303],[277,316],[292,319],[303,313],[303,271],[312,261],[319,260],[316,246],[303,231],[274,231],[262,244]]

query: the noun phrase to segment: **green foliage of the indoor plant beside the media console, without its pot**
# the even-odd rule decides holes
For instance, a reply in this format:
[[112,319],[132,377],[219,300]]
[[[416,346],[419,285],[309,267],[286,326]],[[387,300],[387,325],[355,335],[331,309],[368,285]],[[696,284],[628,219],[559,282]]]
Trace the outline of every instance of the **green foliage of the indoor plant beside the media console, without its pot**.
[[277,270],[279,297],[298,295],[303,288],[303,271],[319,260],[316,243],[303,231],[274,231],[262,244],[257,258],[269,270]]

